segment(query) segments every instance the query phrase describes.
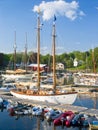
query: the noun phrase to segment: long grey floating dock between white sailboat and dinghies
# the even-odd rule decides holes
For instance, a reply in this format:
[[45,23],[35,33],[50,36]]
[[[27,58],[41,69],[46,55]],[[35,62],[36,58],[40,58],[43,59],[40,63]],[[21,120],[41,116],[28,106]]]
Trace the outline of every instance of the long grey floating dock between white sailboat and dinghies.
[[14,103],[21,103],[21,104],[27,104],[27,105],[32,105],[32,106],[42,106],[42,107],[50,107],[53,109],[58,109],[62,111],[73,111],[74,113],[84,113],[90,116],[98,115],[98,109],[88,109],[86,107],[81,107],[81,106],[74,106],[74,105],[68,105],[68,104],[53,104],[49,102],[41,102],[41,101],[35,101],[35,100],[27,100],[27,99],[20,99],[16,98],[10,94],[1,94],[0,97],[8,100],[12,104]]

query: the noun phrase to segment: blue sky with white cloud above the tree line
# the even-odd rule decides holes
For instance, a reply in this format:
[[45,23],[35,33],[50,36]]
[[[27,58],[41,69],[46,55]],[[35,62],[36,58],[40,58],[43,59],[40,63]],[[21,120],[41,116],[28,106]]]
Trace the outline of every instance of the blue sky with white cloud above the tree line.
[[98,47],[98,0],[0,0],[0,53],[13,53],[15,43],[17,52],[26,43],[36,51],[38,10],[42,54],[52,51],[54,15],[58,54]]

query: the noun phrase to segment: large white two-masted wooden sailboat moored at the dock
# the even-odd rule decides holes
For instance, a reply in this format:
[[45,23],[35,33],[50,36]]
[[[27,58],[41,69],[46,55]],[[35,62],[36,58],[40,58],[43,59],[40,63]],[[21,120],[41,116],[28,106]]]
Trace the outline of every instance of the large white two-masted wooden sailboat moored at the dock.
[[46,103],[55,104],[73,104],[77,98],[77,92],[61,92],[56,89],[56,75],[55,75],[55,21],[53,21],[53,89],[52,90],[41,90],[40,87],[40,14],[38,13],[37,18],[37,64],[38,64],[38,89],[25,90],[25,91],[11,91],[11,94],[17,98],[43,101]]

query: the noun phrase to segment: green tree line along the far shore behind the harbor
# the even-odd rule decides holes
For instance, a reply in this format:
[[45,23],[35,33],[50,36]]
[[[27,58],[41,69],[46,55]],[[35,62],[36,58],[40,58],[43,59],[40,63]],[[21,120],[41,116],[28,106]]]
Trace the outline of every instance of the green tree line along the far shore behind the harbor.
[[[77,66],[74,66],[74,60],[77,60]],[[14,62],[14,54],[4,54],[0,53],[0,70],[13,69]],[[80,52],[73,51],[70,53],[62,53],[60,55],[56,55],[56,62],[63,63],[65,69],[69,70],[86,70],[90,72],[97,72],[98,68],[98,47],[94,49],[90,49],[89,51]],[[17,52],[16,54],[16,64],[31,64],[37,63],[37,53],[36,52],[28,52],[25,55],[24,52]],[[52,55],[40,55],[40,63],[52,65]]]

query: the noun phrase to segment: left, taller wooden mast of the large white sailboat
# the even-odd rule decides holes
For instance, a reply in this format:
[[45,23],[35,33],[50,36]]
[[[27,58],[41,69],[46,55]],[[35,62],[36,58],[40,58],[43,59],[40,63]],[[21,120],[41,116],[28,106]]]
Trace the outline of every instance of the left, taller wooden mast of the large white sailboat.
[[37,71],[38,71],[38,90],[40,90],[40,11],[37,17]]

